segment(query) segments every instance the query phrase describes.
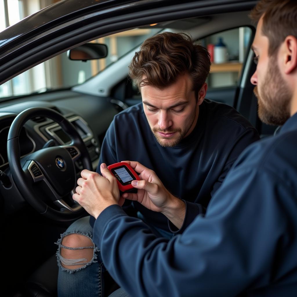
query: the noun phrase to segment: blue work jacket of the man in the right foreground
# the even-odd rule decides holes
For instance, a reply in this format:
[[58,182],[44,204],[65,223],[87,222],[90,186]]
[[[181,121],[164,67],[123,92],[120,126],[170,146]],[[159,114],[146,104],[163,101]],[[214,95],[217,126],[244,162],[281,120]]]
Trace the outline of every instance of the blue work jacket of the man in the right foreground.
[[109,206],[94,224],[105,267],[130,296],[297,296],[296,154],[297,114],[250,145],[171,240]]

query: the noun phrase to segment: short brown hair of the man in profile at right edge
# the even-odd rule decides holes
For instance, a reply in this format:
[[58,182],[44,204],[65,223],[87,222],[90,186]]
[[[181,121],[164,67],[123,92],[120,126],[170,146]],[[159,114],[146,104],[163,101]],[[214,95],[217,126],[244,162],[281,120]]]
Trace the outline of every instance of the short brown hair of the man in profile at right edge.
[[268,37],[268,55],[273,55],[289,35],[297,37],[297,1],[262,0],[250,13],[254,21],[263,16],[262,34]]

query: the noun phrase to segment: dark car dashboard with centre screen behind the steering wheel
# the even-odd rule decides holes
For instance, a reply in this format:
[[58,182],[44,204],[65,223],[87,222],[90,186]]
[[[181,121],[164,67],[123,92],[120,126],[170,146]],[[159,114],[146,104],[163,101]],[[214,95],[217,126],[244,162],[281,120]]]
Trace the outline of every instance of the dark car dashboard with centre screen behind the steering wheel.
[[[7,158],[7,136],[15,117],[28,108],[51,108],[70,121],[89,152],[95,171],[99,162],[100,148],[104,135],[113,116],[119,112],[119,105],[113,98],[101,98],[73,91],[57,91],[36,94],[0,103],[0,170],[11,180],[10,187],[0,187],[3,211],[12,214],[21,210],[25,203],[10,175]],[[21,157],[42,149],[51,141],[51,146],[71,143],[69,136],[60,125],[51,119],[36,116],[28,120],[20,132]],[[75,162],[77,177],[83,169],[81,161]]]

